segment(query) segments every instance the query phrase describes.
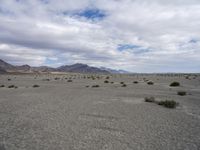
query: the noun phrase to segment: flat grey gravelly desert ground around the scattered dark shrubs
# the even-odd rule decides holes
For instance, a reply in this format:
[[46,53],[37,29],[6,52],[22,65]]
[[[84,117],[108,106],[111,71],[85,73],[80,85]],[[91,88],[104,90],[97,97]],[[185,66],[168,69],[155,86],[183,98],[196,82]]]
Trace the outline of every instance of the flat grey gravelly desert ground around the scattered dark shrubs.
[[200,75],[1,75],[1,85],[0,150],[200,149]]

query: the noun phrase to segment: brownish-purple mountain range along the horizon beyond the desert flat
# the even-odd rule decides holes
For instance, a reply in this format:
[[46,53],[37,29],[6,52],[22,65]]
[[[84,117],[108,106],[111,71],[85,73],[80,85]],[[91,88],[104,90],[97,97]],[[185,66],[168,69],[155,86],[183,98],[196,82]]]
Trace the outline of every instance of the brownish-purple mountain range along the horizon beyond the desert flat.
[[32,67],[29,65],[16,66],[0,59],[0,73],[6,73],[6,72],[21,72],[21,73],[76,72],[76,73],[102,73],[102,74],[129,73],[124,70],[114,70],[105,67],[97,68],[81,63],[76,63],[73,65],[64,65],[58,68],[53,68],[48,66]]

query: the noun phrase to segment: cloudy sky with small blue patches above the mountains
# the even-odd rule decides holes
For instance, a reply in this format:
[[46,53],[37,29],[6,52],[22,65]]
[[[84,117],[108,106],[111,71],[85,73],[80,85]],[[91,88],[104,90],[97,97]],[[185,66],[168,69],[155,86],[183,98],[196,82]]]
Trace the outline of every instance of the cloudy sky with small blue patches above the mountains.
[[200,72],[200,0],[0,0],[0,59]]

